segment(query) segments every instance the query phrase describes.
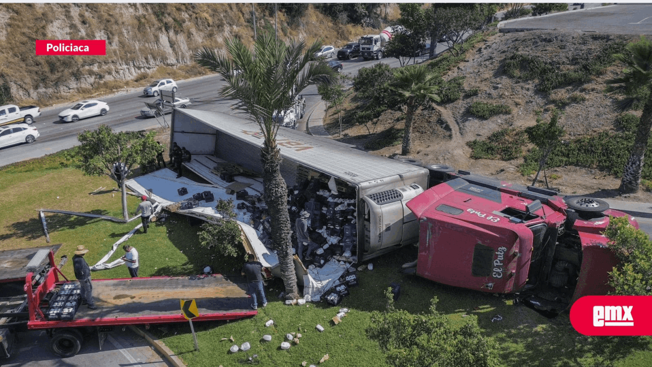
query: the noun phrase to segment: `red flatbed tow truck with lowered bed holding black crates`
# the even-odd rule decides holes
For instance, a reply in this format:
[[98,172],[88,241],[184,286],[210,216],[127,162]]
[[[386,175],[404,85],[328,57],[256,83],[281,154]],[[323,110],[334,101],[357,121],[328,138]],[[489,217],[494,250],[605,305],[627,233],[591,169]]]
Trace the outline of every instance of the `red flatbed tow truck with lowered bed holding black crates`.
[[83,340],[125,325],[186,321],[180,299],[195,299],[193,321],[228,320],[256,315],[249,308],[244,277],[207,274],[93,280],[91,310],[82,306],[79,283],[68,280],[55,265],[59,246],[0,252],[0,357],[10,357],[14,335],[44,329],[50,349],[72,357]]

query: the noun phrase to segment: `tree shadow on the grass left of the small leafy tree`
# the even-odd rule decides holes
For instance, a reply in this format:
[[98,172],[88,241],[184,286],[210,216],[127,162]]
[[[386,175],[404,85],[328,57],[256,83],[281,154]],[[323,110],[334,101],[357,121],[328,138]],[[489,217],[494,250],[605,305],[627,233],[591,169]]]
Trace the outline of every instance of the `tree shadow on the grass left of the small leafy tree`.
[[[89,214],[99,214],[106,215],[106,211],[94,210],[87,212]],[[43,213],[46,218],[46,225],[48,226],[48,233],[53,233],[55,231],[61,231],[63,229],[76,229],[78,227],[85,226],[89,223],[96,222],[101,220],[100,218],[90,218],[87,216],[76,216],[70,214],[60,214],[60,213]],[[35,240],[45,237],[43,233],[43,225],[41,223],[38,213],[35,214],[35,218],[30,218],[22,222],[12,223],[10,226],[11,230],[4,235],[0,235],[0,241],[7,239],[26,239],[26,240]]]

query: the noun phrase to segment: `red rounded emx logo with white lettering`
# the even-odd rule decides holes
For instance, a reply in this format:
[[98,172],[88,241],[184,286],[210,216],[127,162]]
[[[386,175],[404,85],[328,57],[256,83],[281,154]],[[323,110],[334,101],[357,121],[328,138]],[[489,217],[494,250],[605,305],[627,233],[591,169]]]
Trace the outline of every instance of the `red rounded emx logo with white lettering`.
[[584,335],[652,335],[652,296],[587,296],[571,308],[572,326]]

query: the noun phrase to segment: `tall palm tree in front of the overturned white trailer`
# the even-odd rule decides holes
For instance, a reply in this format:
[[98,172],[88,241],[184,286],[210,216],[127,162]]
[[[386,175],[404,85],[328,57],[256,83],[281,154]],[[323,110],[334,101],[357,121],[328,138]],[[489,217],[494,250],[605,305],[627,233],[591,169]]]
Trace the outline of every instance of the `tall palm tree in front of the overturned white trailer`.
[[271,216],[271,237],[276,248],[287,299],[299,297],[294,270],[288,213],[288,187],[280,173],[281,156],[276,145],[280,126],[274,111],[288,110],[308,85],[331,83],[334,72],[323,62],[308,63],[321,47],[317,40],[306,48],[303,41],[285,44],[266,34],[258,37],[253,50],[237,38],[226,42],[226,50],[207,48],[194,55],[195,62],[218,72],[226,84],[220,95],[258,124],[264,136],[261,160],[265,203]]

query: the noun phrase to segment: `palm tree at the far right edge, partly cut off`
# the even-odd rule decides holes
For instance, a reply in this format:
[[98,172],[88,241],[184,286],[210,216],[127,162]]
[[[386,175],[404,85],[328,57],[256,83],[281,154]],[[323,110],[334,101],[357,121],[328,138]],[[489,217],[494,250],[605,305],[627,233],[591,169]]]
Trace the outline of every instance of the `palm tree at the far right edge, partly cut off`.
[[641,183],[645,150],[652,128],[652,42],[641,37],[637,42],[628,44],[624,53],[615,54],[614,58],[625,64],[623,76],[607,81],[609,86],[606,92],[625,96],[615,105],[615,109],[622,112],[644,104],[634,146],[625,164],[619,188],[622,194],[631,194],[638,192]]

